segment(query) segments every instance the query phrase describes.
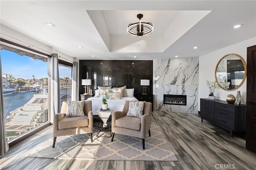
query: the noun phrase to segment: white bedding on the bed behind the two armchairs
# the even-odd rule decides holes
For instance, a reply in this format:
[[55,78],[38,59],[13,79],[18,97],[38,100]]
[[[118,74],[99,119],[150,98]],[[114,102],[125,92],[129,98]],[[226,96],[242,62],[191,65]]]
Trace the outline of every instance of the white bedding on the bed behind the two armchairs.
[[[97,111],[100,111],[102,109],[102,98],[98,97],[91,97],[87,100],[92,101],[92,113],[93,115],[97,115]],[[122,97],[119,100],[110,100],[107,99],[108,108],[113,109],[114,111],[122,111],[124,108],[124,102],[125,101],[138,101],[135,97]]]

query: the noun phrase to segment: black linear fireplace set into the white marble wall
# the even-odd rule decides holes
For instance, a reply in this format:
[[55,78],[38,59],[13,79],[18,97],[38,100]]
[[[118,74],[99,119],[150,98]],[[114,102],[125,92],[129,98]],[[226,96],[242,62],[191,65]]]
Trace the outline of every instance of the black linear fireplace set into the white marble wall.
[[164,95],[164,104],[187,105],[187,95]]

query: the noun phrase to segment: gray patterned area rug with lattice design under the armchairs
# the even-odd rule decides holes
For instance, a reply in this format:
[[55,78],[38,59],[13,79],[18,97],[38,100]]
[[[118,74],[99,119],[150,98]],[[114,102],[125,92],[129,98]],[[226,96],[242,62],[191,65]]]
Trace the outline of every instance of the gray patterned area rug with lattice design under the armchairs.
[[85,160],[147,160],[147,161],[178,161],[157,125],[151,125],[151,136],[145,138],[145,150],[142,139],[115,134],[111,138],[96,137],[93,142],[89,134],[57,137],[55,148],[53,138],[37,145],[28,157],[85,159]]

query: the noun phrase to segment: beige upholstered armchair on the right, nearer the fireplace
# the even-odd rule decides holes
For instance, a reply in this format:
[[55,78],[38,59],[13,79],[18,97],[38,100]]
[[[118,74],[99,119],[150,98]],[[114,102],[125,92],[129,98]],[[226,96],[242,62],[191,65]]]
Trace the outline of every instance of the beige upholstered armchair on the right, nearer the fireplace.
[[114,134],[124,134],[128,136],[134,136],[142,138],[142,146],[145,149],[145,137],[147,133],[150,136],[151,125],[151,106],[152,103],[145,102],[142,117],[128,117],[126,116],[129,110],[130,101],[125,101],[123,111],[115,111],[112,114],[112,139],[114,140]]

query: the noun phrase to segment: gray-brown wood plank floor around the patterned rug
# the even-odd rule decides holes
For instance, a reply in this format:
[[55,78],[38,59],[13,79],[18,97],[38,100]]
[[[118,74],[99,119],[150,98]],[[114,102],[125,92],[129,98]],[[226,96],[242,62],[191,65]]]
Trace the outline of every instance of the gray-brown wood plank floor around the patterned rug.
[[245,139],[214,127],[195,114],[154,111],[152,122],[162,129],[178,162],[97,161],[29,158],[36,144],[52,138],[52,126],[10,148],[1,157],[3,170],[255,170],[256,154],[245,148]]

